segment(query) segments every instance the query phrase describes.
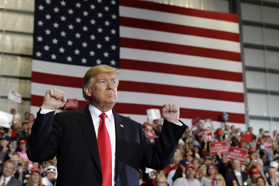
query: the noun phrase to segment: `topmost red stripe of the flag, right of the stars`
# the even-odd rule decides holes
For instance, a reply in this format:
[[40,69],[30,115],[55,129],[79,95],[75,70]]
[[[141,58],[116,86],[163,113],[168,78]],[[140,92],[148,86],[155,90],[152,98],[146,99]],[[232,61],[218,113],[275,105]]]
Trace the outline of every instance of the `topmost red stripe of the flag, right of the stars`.
[[[170,6],[162,3],[153,3],[147,1],[135,1],[135,0],[119,0],[120,6],[129,6],[134,8],[142,8],[148,10],[155,10],[160,12],[169,12],[174,14],[189,15],[196,17],[204,17],[209,19],[218,19],[223,21],[230,21],[238,23],[237,14],[228,14],[222,12],[211,12],[211,11],[201,11],[191,8],[184,8],[179,6]],[[186,10],[186,11],[185,11]]]

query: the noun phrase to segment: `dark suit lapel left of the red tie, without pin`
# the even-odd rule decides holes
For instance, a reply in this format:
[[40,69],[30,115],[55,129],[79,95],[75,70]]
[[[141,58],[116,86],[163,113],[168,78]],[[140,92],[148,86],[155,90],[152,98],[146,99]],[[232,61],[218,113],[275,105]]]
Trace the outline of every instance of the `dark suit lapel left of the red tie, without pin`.
[[81,124],[81,128],[82,128],[83,134],[85,136],[85,140],[87,142],[91,156],[92,156],[93,160],[95,161],[100,173],[102,173],[97,137],[96,137],[94,124],[92,121],[92,116],[90,114],[88,105],[84,109],[81,110],[81,112],[79,113],[79,116],[78,116],[78,120]]

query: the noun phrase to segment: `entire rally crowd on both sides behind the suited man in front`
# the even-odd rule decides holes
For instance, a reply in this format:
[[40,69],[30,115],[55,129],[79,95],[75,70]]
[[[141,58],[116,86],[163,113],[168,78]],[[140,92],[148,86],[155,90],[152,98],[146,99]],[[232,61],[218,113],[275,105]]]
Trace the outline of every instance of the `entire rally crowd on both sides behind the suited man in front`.
[[[15,115],[15,109],[11,109]],[[227,154],[217,152],[210,155],[209,143],[201,140],[197,134],[204,128],[205,122],[211,123],[214,139],[210,141],[227,141],[230,146],[248,150],[246,162],[238,159],[228,160]],[[141,186],[258,186],[279,184],[279,148],[278,132],[271,137],[259,130],[253,140],[242,141],[242,135],[253,134],[253,128],[241,131],[235,126],[226,125],[214,129],[211,120],[200,121],[196,127],[187,128],[176,147],[171,163],[164,170],[141,167],[139,171]],[[34,115],[26,112],[24,120],[15,119],[11,128],[0,127],[0,185],[53,186],[57,178],[57,159],[47,162],[30,162],[26,154],[26,144],[31,133]],[[147,132],[147,125],[152,126],[152,134]],[[160,136],[162,125],[156,119],[152,124],[145,122],[143,129],[151,142]],[[15,141],[17,143],[15,143]]]

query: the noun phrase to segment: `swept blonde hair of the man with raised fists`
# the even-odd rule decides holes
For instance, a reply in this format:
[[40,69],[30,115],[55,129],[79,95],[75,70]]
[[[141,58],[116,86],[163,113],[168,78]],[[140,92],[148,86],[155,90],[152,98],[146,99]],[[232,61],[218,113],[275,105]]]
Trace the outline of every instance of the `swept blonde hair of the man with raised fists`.
[[[83,76],[83,87],[82,87],[83,98],[86,101],[90,101],[90,100],[84,91],[84,87],[87,87],[91,83],[92,78],[102,72],[111,72],[115,75],[116,78],[119,75],[119,69],[110,67],[108,65],[96,65],[94,67],[91,67],[89,70],[87,70],[87,72]],[[119,83],[119,81],[117,78],[117,85],[118,85],[118,83]]]

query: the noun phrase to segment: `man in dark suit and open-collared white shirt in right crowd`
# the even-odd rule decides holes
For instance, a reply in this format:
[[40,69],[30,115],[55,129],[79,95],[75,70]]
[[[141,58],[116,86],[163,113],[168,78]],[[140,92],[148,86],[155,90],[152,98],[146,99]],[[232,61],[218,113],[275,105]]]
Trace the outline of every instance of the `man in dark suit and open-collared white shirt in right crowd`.
[[239,160],[232,160],[232,170],[226,172],[226,180],[236,180],[239,186],[247,180],[246,173],[241,171]]

